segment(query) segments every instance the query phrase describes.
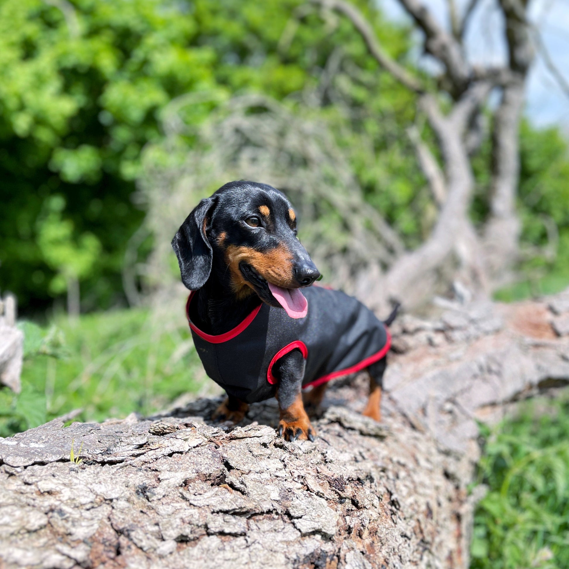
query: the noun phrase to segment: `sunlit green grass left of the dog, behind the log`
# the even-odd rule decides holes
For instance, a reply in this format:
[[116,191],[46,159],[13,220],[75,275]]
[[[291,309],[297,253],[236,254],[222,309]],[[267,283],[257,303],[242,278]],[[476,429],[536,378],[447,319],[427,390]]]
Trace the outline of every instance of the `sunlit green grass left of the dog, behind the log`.
[[146,310],[24,321],[22,392],[0,389],[0,436],[73,409],[77,420],[147,415],[199,390],[203,371],[187,327],[157,325]]

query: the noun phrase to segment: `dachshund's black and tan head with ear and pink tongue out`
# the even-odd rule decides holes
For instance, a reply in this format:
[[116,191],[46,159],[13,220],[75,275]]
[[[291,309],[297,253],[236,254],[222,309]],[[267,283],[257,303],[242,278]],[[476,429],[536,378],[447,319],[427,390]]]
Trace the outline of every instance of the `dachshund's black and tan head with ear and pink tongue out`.
[[[201,200],[174,236],[172,247],[189,290],[216,278],[228,282],[236,298],[257,294],[292,318],[306,316],[307,303],[299,288],[320,277],[296,237],[292,205],[266,184],[230,182]],[[223,268],[216,273],[216,266]]]

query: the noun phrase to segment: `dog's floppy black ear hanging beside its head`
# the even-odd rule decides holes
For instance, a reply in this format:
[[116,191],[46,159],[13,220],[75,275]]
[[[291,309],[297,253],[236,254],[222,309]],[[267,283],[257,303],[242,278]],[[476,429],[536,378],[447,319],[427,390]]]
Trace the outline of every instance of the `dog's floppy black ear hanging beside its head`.
[[182,282],[189,290],[203,287],[212,270],[213,251],[205,229],[216,201],[217,198],[213,196],[201,200],[172,239]]

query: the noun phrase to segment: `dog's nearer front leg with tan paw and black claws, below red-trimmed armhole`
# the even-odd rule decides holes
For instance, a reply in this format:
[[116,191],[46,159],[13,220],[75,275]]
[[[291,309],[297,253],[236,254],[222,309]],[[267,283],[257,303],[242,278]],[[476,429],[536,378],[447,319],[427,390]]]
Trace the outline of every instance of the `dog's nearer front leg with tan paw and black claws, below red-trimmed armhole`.
[[281,411],[278,434],[285,440],[314,440],[316,431],[302,403],[302,380],[304,377],[304,358],[298,349],[288,352],[278,360],[273,368],[279,380],[277,399]]

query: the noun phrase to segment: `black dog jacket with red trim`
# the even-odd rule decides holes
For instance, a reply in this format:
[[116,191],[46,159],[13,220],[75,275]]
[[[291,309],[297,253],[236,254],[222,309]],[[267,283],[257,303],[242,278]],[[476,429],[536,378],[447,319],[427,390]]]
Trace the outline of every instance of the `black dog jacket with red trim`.
[[303,288],[308,314],[294,319],[283,308],[259,304],[235,328],[212,336],[186,315],[205,372],[234,397],[247,403],[273,397],[275,362],[298,348],[306,360],[303,387],[358,372],[385,356],[391,336],[358,300],[336,290]]

